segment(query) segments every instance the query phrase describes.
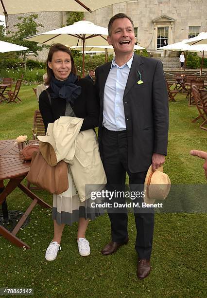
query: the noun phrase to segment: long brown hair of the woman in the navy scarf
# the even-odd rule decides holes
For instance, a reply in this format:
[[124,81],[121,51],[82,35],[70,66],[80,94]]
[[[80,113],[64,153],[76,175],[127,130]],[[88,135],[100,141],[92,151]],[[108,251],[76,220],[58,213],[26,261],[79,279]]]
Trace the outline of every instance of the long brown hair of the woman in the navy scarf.
[[74,75],[77,75],[77,69],[75,67],[75,62],[73,60],[73,56],[71,51],[69,50],[69,48],[67,48],[65,45],[61,44],[61,43],[55,43],[51,46],[50,51],[48,53],[48,58],[47,58],[47,74],[48,74],[48,78],[45,82],[45,85],[50,85],[51,82],[51,78],[52,76],[54,76],[52,69],[48,66],[48,62],[52,62],[52,56],[55,52],[65,52],[68,53],[70,56],[70,60],[71,60],[71,73],[73,73]]

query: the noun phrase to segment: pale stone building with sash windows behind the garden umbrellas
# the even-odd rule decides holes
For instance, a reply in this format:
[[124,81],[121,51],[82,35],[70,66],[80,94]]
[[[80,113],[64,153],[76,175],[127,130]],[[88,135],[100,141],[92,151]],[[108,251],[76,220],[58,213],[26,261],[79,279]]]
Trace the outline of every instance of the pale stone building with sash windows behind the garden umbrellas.
[[[207,31],[207,0],[131,0],[86,12],[85,19],[107,27],[109,19],[125,13],[132,18],[139,45],[151,53],[160,53],[158,47],[197,36]],[[27,15],[27,14],[24,14]],[[38,13],[38,22],[44,25],[39,33],[66,25],[66,12]],[[17,15],[8,19],[9,29],[17,23]],[[40,53],[39,59],[45,58]]]

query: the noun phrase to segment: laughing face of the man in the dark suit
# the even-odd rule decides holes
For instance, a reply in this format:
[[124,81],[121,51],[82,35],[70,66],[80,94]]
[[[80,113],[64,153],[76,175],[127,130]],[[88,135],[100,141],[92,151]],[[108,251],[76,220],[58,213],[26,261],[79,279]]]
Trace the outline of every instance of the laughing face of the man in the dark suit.
[[113,46],[116,56],[130,54],[135,45],[135,34],[132,23],[127,18],[115,19],[111,27],[111,36],[107,41]]

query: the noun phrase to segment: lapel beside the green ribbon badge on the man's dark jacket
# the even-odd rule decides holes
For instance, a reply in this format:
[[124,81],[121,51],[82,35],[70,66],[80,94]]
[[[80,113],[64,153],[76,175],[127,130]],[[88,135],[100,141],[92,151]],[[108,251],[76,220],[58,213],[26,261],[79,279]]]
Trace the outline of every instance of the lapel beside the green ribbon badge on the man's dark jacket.
[[123,93],[123,97],[127,95],[132,86],[140,79],[138,72],[141,74],[143,71],[143,61],[142,58],[136,54],[134,54],[134,58],[132,60],[132,66],[130,68],[129,76],[126,82],[126,87]]

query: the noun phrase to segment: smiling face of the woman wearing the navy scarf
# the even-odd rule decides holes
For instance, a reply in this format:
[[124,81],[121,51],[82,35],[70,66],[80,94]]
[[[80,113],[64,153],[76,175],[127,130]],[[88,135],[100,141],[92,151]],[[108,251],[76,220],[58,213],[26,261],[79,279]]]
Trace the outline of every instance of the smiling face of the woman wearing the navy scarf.
[[71,72],[70,55],[66,52],[57,51],[52,55],[52,61],[48,62],[56,79],[64,81],[69,77]]

